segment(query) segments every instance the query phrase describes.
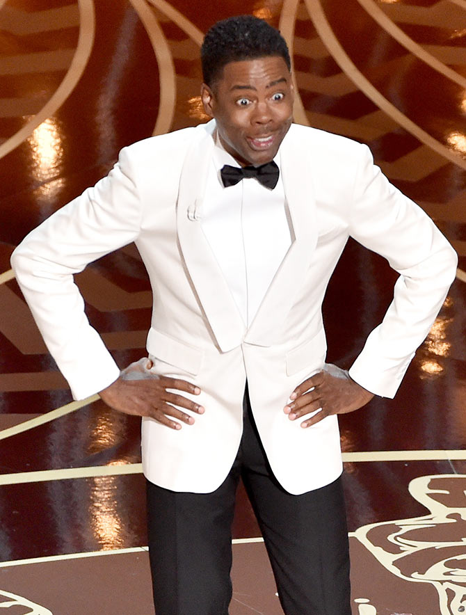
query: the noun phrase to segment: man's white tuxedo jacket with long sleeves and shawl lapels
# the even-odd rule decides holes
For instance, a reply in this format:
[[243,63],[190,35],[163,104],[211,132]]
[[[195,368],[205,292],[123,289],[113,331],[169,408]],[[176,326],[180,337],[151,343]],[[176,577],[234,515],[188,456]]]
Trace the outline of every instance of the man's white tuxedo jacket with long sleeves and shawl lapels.
[[401,274],[383,323],[350,371],[387,397],[444,301],[456,254],[373,166],[367,147],[293,125],[280,147],[292,243],[246,328],[200,223],[214,129],[209,122],[124,148],[108,177],[31,232],[12,263],[49,350],[83,399],[119,369],[88,324],[73,274],[135,241],[154,296],[152,369],[198,385],[195,400],[206,409],[179,431],[143,420],[145,475],[172,490],[216,489],[239,447],[247,378],[273,472],[290,493],[303,493],[342,470],[337,417],[302,429],[282,409],[296,385],[323,367],[321,305],[348,237]]

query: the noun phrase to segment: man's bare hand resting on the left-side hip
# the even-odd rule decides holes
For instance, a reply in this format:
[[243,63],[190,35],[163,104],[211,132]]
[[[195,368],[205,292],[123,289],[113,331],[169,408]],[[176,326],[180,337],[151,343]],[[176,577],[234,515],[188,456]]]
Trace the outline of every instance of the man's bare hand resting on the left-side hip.
[[203,414],[204,408],[175,392],[167,389],[184,391],[193,395],[200,394],[200,388],[180,378],[159,376],[150,372],[152,361],[140,359],[123,370],[122,374],[109,387],[99,392],[103,401],[122,413],[141,417],[151,417],[171,429],[181,429],[178,419],[186,425],[192,425],[194,418],[179,408]]

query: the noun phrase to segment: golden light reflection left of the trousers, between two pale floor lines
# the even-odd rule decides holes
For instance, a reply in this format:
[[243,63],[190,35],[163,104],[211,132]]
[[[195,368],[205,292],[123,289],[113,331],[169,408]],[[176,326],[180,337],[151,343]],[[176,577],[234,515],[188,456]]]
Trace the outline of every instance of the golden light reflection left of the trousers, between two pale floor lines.
[[124,546],[122,520],[118,514],[116,477],[96,477],[90,492],[90,527],[102,550]]

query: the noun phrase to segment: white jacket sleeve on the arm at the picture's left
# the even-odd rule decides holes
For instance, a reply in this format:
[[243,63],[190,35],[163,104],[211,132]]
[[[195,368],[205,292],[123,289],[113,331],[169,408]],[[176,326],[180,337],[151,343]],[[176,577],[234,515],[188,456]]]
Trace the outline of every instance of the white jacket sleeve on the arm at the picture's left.
[[74,273],[133,241],[140,209],[134,173],[122,150],[107,177],[29,233],[12,255],[19,287],[74,399],[106,388],[120,374],[88,322]]

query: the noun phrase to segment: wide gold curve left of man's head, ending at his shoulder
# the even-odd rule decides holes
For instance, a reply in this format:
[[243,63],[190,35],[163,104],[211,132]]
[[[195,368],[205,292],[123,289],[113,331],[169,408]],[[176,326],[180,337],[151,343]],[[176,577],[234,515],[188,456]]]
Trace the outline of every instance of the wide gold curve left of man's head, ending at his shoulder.
[[145,0],[129,0],[138,13],[147,35],[150,38],[154,54],[159,65],[160,104],[159,114],[152,134],[165,134],[170,130],[177,100],[177,83],[175,64],[168,42],[159,25],[159,21]]

